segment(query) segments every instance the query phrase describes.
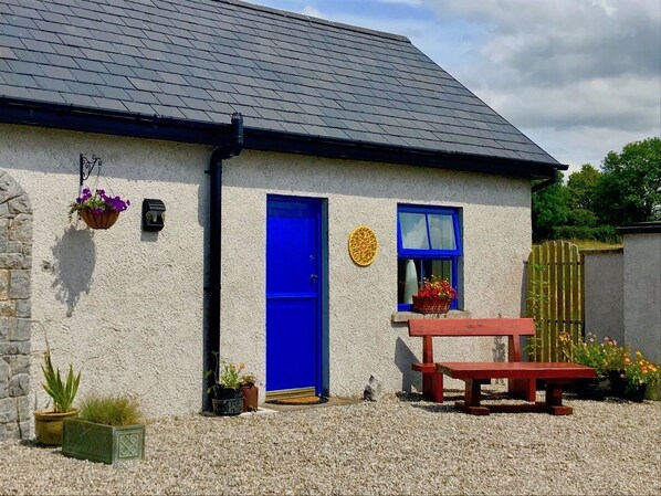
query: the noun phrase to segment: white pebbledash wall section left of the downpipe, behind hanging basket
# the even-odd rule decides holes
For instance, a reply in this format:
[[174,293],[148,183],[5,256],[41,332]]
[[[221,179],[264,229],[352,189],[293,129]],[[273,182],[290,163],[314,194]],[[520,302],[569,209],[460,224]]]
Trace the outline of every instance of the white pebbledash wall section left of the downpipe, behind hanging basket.
[[[108,231],[70,223],[78,154],[103,159],[132,207]],[[0,125],[0,169],[30,196],[33,217],[31,383],[38,408],[44,330],[53,360],[82,369],[91,391],[137,394],[149,416],[195,412],[202,398],[203,226],[210,149],[165,141]],[[94,179],[86,182],[94,186]],[[166,225],[144,233],[144,198]]]

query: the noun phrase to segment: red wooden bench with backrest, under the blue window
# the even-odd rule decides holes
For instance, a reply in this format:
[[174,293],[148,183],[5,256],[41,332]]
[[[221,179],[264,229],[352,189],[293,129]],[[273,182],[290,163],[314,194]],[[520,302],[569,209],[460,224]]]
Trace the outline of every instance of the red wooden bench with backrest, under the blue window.
[[[535,335],[532,318],[413,318],[409,320],[409,336],[422,338],[422,361],[411,368],[422,372],[422,393],[432,401],[443,402],[443,372],[437,371],[433,358],[434,337],[506,336],[507,358],[521,361],[521,338]],[[510,394],[535,401],[535,379],[510,378]]]

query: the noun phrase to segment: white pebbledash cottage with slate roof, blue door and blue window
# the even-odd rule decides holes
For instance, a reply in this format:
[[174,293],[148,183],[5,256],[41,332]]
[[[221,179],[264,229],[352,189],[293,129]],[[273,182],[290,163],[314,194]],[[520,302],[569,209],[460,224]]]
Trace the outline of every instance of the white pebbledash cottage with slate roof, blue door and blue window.
[[[67,219],[81,155],[132,200],[109,230]],[[214,350],[262,401],[418,389],[411,281],[518,316],[531,179],[559,169],[402,36],[229,0],[2,2],[0,439],[45,403],[46,337],[82,394],[151,416],[206,407]]]

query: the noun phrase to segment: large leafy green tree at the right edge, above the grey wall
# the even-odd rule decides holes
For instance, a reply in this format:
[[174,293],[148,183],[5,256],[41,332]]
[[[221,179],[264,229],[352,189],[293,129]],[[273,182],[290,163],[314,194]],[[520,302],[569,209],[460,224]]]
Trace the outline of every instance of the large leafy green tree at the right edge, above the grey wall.
[[661,138],[625,145],[602,163],[595,208],[604,224],[661,220]]

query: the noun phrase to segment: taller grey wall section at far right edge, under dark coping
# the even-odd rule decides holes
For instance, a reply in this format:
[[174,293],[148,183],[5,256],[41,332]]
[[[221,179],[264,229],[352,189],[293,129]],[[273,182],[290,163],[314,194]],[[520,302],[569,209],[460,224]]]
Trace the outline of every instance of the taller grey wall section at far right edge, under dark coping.
[[661,233],[625,234],[625,334],[661,363]]

